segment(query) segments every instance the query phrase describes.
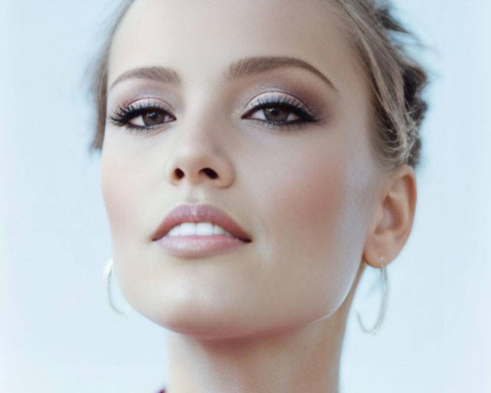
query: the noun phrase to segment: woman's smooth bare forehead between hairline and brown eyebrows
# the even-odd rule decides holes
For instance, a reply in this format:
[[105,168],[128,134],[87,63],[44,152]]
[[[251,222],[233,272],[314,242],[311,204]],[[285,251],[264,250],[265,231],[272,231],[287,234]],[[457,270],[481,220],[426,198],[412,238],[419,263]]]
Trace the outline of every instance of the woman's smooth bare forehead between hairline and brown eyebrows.
[[341,83],[359,70],[339,19],[327,0],[136,0],[112,42],[109,83],[138,67],[187,79],[256,56],[299,58]]

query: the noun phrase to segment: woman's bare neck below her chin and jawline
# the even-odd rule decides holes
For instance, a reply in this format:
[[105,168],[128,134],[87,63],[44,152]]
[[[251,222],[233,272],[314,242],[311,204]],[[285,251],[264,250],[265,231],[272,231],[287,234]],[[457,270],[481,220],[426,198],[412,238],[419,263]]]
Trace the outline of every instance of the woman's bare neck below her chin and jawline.
[[166,393],[337,393],[352,297],[333,315],[281,335],[219,341],[171,334]]

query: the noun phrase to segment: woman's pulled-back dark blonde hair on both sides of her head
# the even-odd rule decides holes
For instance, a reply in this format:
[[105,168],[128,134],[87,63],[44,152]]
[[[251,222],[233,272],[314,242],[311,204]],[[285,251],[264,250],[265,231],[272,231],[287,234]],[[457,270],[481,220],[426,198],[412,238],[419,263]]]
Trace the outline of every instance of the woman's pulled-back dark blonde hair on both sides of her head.
[[[106,127],[108,62],[112,38],[135,0],[126,0],[117,13],[96,58],[91,93],[97,124],[91,148],[102,149]],[[419,129],[427,111],[422,90],[427,74],[409,55],[404,39],[413,37],[391,15],[388,5],[374,0],[330,0],[342,10],[346,33],[366,69],[373,102],[373,147],[384,168],[420,160]],[[414,38],[414,37],[413,37]]]

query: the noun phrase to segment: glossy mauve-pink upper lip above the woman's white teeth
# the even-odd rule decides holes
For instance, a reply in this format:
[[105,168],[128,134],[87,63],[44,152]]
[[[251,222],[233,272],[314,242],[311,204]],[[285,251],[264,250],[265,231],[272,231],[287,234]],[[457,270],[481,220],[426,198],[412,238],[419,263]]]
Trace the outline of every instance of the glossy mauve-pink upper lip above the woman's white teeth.
[[153,240],[164,237],[174,226],[182,223],[211,223],[219,225],[232,236],[250,242],[249,234],[228,214],[212,205],[180,205],[172,209],[153,235]]

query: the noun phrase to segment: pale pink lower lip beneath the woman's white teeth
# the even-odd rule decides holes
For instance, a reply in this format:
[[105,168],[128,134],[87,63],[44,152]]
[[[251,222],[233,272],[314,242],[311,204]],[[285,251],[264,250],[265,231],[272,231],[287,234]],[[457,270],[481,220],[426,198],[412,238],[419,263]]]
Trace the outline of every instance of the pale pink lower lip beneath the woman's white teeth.
[[210,256],[248,244],[248,242],[235,237],[223,235],[168,236],[156,240],[156,242],[159,243],[167,253],[183,258]]

